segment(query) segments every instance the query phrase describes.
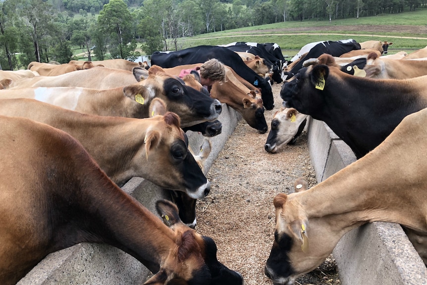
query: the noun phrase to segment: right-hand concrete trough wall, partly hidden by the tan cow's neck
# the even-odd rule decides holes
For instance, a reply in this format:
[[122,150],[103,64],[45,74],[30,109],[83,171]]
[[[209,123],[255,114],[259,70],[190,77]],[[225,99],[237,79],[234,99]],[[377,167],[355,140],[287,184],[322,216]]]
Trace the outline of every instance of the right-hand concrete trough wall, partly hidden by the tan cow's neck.
[[[322,121],[310,119],[308,144],[317,180],[356,161]],[[342,285],[426,285],[423,260],[398,224],[374,222],[346,233],[333,251]]]

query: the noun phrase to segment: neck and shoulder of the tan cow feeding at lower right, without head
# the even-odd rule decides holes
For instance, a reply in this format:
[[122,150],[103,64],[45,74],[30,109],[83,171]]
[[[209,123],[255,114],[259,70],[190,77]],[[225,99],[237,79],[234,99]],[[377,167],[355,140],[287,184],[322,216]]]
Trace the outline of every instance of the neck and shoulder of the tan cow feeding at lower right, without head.
[[327,217],[331,227],[351,229],[383,221],[427,232],[425,200],[417,198],[425,196],[427,168],[423,159],[414,159],[427,157],[426,140],[423,121],[399,125],[365,157],[310,190],[291,195],[309,219]]

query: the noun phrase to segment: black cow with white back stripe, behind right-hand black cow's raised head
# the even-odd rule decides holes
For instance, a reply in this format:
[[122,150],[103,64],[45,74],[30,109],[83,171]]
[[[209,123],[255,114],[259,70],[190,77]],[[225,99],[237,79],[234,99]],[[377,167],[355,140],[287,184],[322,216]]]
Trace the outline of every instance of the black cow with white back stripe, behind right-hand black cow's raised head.
[[355,40],[341,40],[341,41],[324,41],[315,42],[305,45],[301,48],[298,54],[291,59],[292,62],[298,62],[292,66],[290,70],[285,70],[284,76],[286,78],[292,77],[303,67],[303,62],[309,58],[318,58],[322,54],[328,54],[332,57],[339,57],[342,54],[348,53],[353,50],[360,50],[360,44]]

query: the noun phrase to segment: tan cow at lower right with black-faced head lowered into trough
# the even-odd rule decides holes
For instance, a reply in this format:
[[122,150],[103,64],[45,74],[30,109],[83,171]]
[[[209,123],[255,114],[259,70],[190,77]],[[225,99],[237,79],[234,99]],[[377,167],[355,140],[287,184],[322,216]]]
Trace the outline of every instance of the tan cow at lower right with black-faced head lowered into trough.
[[294,284],[346,232],[375,221],[416,232],[410,240],[427,264],[426,124],[427,110],[410,114],[365,157],[307,191],[274,198],[274,242],[265,267],[273,284]]

